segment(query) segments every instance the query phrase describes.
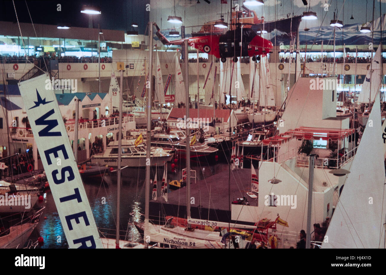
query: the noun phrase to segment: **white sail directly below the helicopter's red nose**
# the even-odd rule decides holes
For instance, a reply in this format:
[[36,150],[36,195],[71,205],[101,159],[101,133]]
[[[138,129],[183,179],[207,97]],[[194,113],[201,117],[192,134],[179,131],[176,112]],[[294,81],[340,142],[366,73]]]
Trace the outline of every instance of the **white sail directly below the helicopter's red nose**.
[[[275,104],[275,90],[273,87],[271,71],[269,70],[268,57],[264,56],[260,59],[261,66],[261,90],[259,105],[265,107],[276,106]],[[258,90],[257,90],[258,91]]]

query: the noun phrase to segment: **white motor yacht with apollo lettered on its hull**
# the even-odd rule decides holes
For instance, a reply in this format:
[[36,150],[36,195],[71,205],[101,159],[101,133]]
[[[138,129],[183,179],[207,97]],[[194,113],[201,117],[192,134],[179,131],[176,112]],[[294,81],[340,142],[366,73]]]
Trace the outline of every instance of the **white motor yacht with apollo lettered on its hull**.
[[[146,166],[146,146],[134,145],[135,139],[122,140],[121,166],[144,167]],[[151,166],[162,166],[170,161],[173,154],[160,147],[151,147]],[[91,163],[98,165],[118,166],[118,141],[108,144],[104,153],[91,156]]]

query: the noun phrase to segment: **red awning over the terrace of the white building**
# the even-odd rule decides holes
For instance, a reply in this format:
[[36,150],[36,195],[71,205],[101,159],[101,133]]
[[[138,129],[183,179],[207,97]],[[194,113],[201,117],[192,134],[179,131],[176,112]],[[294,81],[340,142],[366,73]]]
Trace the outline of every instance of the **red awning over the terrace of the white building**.
[[355,129],[329,129],[329,128],[312,128],[312,127],[299,127],[295,130],[289,130],[278,136],[263,139],[264,145],[280,145],[292,138],[296,139],[322,139],[337,141],[339,139],[347,138],[350,134],[354,134]]

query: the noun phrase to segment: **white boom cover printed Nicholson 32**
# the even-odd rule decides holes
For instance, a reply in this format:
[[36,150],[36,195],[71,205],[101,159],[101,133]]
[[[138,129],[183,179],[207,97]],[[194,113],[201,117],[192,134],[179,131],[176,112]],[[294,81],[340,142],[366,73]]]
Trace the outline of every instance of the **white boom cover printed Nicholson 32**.
[[[195,230],[185,231],[183,227],[166,228],[145,222],[144,236],[149,241],[183,248],[224,248],[218,232]],[[146,241],[145,238],[145,241]]]

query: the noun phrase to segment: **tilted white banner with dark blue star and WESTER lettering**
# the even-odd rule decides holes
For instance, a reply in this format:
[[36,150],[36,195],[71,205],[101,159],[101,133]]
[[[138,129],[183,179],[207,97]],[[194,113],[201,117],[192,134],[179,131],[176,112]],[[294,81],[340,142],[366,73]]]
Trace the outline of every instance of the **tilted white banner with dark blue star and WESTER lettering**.
[[103,248],[48,75],[19,89],[69,247]]

